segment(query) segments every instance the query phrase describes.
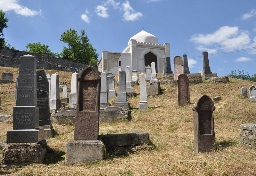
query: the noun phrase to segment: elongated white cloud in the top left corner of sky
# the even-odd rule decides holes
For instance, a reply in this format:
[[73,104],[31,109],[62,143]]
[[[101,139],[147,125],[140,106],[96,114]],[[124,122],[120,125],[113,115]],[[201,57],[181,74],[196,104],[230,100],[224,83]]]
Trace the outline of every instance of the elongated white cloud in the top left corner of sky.
[[14,11],[15,13],[23,16],[34,16],[41,14],[41,10],[30,10],[28,7],[18,4],[18,0],[0,0],[0,9],[3,11]]

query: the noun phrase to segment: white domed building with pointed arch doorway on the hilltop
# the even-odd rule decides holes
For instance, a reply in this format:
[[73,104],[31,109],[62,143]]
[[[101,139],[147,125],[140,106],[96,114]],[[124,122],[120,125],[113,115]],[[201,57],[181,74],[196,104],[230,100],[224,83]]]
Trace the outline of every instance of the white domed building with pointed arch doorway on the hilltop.
[[170,60],[170,44],[158,44],[156,36],[142,30],[130,38],[123,52],[102,51],[98,69],[118,73],[118,68],[125,71],[125,67],[130,66],[131,70],[145,72],[145,67],[155,62],[156,72],[163,73],[166,60]]

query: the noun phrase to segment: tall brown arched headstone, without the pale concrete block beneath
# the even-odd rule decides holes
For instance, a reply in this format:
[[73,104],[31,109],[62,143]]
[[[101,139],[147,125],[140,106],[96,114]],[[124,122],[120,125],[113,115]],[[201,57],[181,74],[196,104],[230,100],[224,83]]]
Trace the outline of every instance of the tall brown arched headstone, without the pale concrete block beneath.
[[100,75],[88,66],[78,76],[74,140],[98,140]]

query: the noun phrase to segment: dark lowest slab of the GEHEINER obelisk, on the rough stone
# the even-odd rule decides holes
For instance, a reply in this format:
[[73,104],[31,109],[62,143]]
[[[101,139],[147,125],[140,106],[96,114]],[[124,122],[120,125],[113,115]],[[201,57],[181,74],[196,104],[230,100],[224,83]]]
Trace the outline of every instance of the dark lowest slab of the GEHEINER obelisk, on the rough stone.
[[44,140],[44,130],[37,129],[25,129],[25,130],[10,130],[6,134],[7,143],[19,143],[19,142],[39,142]]

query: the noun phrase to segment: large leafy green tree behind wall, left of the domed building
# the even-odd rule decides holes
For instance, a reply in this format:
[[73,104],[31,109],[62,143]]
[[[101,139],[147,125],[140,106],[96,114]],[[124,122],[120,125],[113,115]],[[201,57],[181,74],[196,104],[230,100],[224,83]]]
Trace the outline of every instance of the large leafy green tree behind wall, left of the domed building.
[[84,29],[81,30],[81,36],[78,36],[77,31],[70,28],[61,34],[60,41],[68,45],[68,47],[64,46],[61,52],[63,59],[83,61],[91,65],[97,64],[99,54],[92,47],[92,44],[89,43]]

